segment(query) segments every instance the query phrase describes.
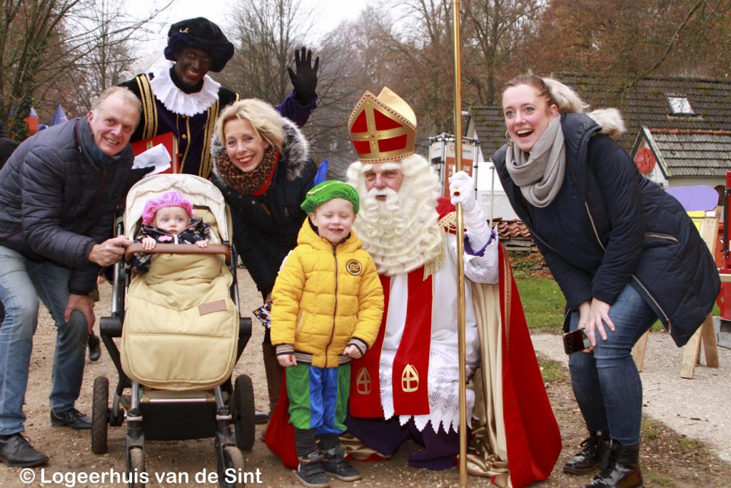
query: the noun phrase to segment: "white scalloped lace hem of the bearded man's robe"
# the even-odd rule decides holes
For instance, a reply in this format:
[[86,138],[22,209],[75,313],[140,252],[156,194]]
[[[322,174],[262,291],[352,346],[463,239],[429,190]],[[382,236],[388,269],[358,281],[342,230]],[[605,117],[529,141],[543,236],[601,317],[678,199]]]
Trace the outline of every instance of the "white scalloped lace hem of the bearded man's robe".
[[[382,353],[380,361],[380,387],[383,416],[386,420],[394,416],[393,413],[393,357]],[[472,371],[467,366],[468,378]],[[429,413],[428,415],[400,415],[398,421],[405,425],[414,419],[417,429],[422,431],[431,421],[435,433],[439,427],[444,432],[459,431],[459,364],[457,358],[452,358],[442,351],[432,349],[429,353]],[[472,418],[474,408],[474,391],[467,390],[467,418]],[[469,427],[468,423],[468,427]]]

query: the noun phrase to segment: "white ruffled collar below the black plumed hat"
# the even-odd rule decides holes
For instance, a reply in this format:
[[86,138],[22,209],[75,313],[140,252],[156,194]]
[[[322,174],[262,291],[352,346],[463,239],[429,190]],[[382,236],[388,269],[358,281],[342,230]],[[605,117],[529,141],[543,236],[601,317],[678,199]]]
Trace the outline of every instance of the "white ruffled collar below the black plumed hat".
[[150,87],[157,100],[173,113],[180,113],[192,117],[197,113],[203,113],[219,100],[219,88],[221,83],[214,81],[208,75],[203,77],[203,86],[195,93],[185,93],[173,83],[170,78],[170,66],[155,67],[152,74],[154,78],[150,81]]

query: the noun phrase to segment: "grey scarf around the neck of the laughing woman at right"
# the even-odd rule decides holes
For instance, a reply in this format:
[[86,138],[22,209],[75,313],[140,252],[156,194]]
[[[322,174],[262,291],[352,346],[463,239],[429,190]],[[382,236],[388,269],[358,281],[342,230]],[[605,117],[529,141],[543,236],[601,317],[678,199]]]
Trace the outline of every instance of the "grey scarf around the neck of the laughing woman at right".
[[556,198],[566,171],[566,149],[561,117],[548,123],[530,153],[513,144],[505,157],[507,172],[532,206],[543,208]]

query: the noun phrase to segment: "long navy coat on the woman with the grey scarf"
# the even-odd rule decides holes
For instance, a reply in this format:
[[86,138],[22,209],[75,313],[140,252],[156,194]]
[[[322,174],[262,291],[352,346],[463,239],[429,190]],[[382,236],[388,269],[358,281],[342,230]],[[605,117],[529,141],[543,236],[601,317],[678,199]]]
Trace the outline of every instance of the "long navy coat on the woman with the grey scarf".
[[[561,192],[573,192],[569,198],[578,198],[577,208],[583,203],[581,218],[537,225],[531,218],[536,212],[507,172],[507,145],[492,160],[512,208],[531,229],[566,296],[567,308],[577,309],[592,298],[613,304],[629,282],[678,347],[684,345],[719,294],[721,282],[708,247],[678,200],[642,176],[624,149],[599,134],[596,121],[568,113],[561,116],[561,128],[568,165],[567,188]],[[537,226],[556,226],[567,239],[551,241]]]

